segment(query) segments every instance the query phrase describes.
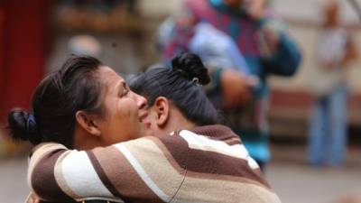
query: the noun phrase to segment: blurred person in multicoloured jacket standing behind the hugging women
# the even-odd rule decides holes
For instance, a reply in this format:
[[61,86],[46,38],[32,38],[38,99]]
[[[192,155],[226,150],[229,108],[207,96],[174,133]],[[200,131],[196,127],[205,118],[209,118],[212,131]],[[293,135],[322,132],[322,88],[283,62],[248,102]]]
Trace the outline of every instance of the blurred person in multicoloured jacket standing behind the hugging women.
[[[247,150],[261,168],[270,159],[266,80],[271,74],[292,76],[301,61],[296,44],[287,36],[282,24],[267,13],[267,4],[266,0],[185,0],[183,14],[172,21],[168,19],[159,32],[159,47],[165,59],[180,51],[195,51],[205,60],[212,77],[212,84],[206,87],[208,97],[225,112],[226,120],[237,134],[241,134]],[[201,39],[199,23],[208,23],[218,29],[218,33],[227,34],[236,44],[238,53],[232,51],[233,45],[219,37],[220,34],[214,42],[209,42],[209,34],[204,34],[203,38],[213,44],[223,39],[226,44],[219,45],[227,48],[223,53],[240,56],[238,63],[231,66],[242,64],[244,59],[246,67],[237,69],[227,67],[226,63],[209,62],[211,54],[205,58],[205,51],[194,45],[197,44],[195,38]],[[228,58],[232,59],[231,56]]]

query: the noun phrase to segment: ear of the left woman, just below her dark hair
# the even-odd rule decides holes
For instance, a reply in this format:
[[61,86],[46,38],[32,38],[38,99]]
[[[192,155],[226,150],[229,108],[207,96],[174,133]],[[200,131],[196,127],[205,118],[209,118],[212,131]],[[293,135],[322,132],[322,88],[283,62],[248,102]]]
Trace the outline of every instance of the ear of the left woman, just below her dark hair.
[[84,111],[78,111],[75,114],[78,124],[83,128],[88,134],[93,134],[96,136],[101,135],[101,131],[97,127],[97,124],[94,119],[95,115],[90,115]]

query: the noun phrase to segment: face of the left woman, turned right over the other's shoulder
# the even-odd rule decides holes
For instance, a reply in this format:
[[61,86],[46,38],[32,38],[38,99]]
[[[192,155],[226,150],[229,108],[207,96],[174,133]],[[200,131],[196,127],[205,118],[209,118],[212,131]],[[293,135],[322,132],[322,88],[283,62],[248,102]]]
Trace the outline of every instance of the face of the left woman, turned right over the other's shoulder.
[[102,143],[109,145],[150,135],[149,125],[143,123],[148,114],[146,99],[131,91],[113,69],[102,66],[98,74],[105,83],[100,97],[104,115],[96,121]]

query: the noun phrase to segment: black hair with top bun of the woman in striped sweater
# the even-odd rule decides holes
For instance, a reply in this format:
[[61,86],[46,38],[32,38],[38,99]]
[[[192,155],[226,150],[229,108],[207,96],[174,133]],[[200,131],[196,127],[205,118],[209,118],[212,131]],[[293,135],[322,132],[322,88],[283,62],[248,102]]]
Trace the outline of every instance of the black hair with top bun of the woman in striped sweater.
[[194,124],[216,124],[218,112],[201,88],[210,78],[199,56],[183,52],[171,60],[171,65],[172,69],[148,69],[130,80],[130,88],[147,97],[149,106],[157,97],[167,97]]

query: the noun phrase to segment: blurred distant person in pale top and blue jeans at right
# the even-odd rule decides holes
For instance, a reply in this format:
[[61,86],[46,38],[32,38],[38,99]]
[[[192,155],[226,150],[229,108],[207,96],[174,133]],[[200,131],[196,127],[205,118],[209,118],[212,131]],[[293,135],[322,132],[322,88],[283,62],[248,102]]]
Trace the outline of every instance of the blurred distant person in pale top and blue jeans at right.
[[310,119],[310,164],[342,166],[347,152],[347,63],[356,59],[356,45],[342,27],[338,2],[329,2],[319,37],[319,78]]

